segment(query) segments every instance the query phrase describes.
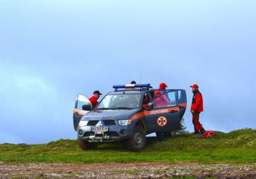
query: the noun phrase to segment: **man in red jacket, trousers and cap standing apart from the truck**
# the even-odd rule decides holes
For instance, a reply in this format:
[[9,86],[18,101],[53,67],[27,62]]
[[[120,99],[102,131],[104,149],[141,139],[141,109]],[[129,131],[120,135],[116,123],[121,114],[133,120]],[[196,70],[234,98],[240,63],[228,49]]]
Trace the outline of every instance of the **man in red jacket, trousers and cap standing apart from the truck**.
[[[192,93],[194,94],[192,98],[192,105],[190,112],[192,113],[192,121],[194,125],[194,134],[203,134],[205,133],[205,129],[203,129],[203,125],[199,122],[199,114],[203,112],[203,96],[201,92],[199,92],[199,86],[194,84],[191,85]],[[199,132],[200,130],[200,132]]]

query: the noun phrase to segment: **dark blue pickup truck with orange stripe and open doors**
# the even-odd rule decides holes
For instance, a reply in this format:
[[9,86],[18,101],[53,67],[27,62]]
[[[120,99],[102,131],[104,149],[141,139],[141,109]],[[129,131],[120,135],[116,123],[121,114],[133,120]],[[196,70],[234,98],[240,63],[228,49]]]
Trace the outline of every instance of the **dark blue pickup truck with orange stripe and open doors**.
[[[127,148],[145,147],[146,135],[181,129],[187,98],[184,89],[152,89],[150,84],[113,85],[95,109],[89,98],[78,94],[73,124],[82,149],[99,143],[126,140]],[[154,96],[155,91],[158,95]]]

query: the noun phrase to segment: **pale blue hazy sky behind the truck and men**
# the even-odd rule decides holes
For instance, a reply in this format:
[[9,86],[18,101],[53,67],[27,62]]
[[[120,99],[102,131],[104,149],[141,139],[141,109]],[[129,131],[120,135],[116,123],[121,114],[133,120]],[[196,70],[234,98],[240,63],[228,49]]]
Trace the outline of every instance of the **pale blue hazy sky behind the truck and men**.
[[190,132],[194,83],[206,130],[256,128],[254,0],[1,0],[0,25],[0,143],[76,139],[77,94],[132,80],[185,89]]

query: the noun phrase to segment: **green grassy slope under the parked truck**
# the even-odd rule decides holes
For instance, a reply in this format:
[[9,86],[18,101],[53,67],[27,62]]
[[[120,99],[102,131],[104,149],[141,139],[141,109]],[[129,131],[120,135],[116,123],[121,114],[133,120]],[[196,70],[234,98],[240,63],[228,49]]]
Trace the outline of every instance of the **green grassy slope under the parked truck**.
[[148,137],[142,151],[128,151],[125,143],[106,143],[83,151],[76,140],[48,144],[2,144],[2,162],[256,162],[256,130],[240,129],[226,134],[217,131],[212,138],[182,134],[158,143]]

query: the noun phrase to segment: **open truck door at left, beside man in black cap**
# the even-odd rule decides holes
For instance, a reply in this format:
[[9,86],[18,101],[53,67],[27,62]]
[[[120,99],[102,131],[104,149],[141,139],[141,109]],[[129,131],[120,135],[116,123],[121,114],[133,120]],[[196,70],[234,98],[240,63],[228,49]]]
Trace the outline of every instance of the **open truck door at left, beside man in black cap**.
[[[90,112],[90,111],[83,110],[82,109],[83,105],[91,105],[89,98],[87,98],[87,96],[85,96],[84,94],[77,94],[77,98],[75,100],[75,108],[73,109],[73,125],[74,125],[75,131],[77,131],[77,126],[82,116]],[[92,105],[91,105],[91,108],[92,108]]]

